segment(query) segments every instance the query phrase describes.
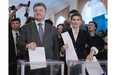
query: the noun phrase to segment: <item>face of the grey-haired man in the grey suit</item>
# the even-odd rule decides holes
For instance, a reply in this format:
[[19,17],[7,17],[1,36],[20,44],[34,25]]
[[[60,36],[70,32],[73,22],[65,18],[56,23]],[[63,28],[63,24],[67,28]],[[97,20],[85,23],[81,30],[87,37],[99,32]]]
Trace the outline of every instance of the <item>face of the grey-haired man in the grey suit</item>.
[[45,13],[46,13],[46,11],[43,6],[37,6],[34,8],[34,17],[38,21],[44,20]]

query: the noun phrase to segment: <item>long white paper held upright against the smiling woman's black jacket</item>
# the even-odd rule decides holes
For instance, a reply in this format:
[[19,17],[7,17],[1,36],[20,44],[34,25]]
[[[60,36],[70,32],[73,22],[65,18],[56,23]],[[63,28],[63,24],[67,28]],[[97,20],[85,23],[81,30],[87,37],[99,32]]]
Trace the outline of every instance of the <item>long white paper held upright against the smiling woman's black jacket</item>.
[[75,52],[73,42],[68,32],[64,32],[61,34],[64,44],[68,44],[69,48],[66,50],[66,62],[68,63],[69,60],[77,61],[78,57]]

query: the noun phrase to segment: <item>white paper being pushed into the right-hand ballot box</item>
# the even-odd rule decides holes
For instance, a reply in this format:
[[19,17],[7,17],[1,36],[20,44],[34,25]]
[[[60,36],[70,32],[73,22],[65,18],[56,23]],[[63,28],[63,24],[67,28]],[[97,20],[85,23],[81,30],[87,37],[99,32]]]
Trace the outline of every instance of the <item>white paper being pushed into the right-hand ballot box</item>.
[[89,75],[102,75],[104,73],[95,56],[92,61],[86,61],[85,68]]

